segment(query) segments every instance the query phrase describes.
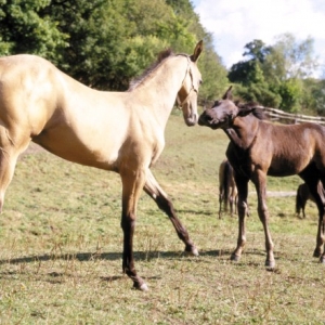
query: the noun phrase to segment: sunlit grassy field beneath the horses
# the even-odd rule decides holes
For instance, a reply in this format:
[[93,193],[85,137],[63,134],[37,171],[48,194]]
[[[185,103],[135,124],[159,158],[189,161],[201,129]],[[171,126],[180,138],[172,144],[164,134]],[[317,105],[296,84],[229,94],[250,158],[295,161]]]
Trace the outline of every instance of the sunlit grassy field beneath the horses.
[[[237,220],[218,219],[221,131],[171,116],[154,174],[171,197],[200,256],[162,212],[141,197],[135,265],[141,292],[121,273],[120,180],[32,145],[17,164],[0,219],[0,324],[325,324],[325,271],[312,258],[317,216],[295,216],[295,197],[269,197],[277,266],[264,269],[264,236],[249,195],[247,247],[230,261]],[[297,177],[269,179],[296,191]],[[253,188],[250,188],[253,192]]]

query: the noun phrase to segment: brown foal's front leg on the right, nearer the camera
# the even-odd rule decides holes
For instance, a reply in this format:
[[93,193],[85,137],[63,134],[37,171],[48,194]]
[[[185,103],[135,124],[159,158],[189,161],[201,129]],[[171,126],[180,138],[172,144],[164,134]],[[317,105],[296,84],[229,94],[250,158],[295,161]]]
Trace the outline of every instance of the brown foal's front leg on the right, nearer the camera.
[[275,259],[273,253],[274,244],[272,242],[271,233],[269,230],[269,209],[266,206],[266,174],[263,171],[258,170],[253,174],[251,180],[255,183],[257,196],[258,196],[258,214],[264,229],[265,250],[266,250],[265,266],[270,269],[274,269],[275,268]]

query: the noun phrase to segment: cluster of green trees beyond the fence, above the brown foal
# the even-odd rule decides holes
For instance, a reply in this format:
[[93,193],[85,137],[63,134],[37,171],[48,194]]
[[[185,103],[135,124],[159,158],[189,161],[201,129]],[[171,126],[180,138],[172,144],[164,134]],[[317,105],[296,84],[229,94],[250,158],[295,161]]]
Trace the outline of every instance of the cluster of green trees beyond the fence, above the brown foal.
[[[234,64],[229,72],[230,81],[240,83],[239,96],[288,112],[299,112],[311,105],[317,107],[320,103],[312,100],[303,81],[316,67],[311,38],[299,43],[292,35],[285,34],[272,47],[253,40],[245,49],[243,56],[248,60]],[[314,92],[313,95],[321,94]]]

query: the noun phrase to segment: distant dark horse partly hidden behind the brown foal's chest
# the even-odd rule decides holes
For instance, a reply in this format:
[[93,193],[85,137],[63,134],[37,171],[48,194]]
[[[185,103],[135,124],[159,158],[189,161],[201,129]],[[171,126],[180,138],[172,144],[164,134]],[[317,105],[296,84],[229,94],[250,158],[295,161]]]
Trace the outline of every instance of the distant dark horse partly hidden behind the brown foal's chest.
[[227,212],[227,206],[230,206],[230,212],[233,217],[234,205],[236,212],[237,204],[237,187],[234,179],[234,170],[227,159],[223,159],[219,166],[219,219],[221,219],[221,210]]

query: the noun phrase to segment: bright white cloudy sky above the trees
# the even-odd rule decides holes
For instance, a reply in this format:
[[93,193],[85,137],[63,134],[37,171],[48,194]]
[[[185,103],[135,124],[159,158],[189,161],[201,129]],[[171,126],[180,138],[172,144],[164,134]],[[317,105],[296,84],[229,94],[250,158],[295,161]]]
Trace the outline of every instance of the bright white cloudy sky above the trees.
[[[244,60],[245,44],[266,46],[285,32],[300,42],[314,39],[314,55],[325,75],[325,0],[191,0],[202,25],[213,36],[216,52],[229,68]],[[324,72],[324,74],[323,74]]]

